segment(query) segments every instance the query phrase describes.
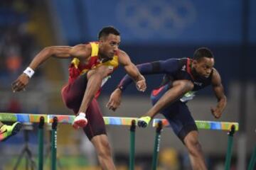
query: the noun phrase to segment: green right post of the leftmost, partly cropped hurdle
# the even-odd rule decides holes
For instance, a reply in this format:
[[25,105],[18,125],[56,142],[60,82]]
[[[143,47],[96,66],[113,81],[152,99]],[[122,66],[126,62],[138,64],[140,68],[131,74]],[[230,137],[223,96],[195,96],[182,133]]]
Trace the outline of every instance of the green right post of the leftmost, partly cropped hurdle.
[[43,170],[43,116],[40,117],[40,122],[38,124],[38,170]]

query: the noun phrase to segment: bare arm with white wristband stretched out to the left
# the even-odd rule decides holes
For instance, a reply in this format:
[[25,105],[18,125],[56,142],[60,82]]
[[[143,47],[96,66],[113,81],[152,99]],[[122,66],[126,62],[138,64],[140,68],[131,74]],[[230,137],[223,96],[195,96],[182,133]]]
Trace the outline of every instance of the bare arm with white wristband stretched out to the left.
[[76,45],[74,47],[69,46],[52,46],[46,47],[33,58],[28,68],[21,74],[16,81],[12,84],[13,91],[21,91],[28,84],[29,79],[33,76],[34,71],[39,65],[43,64],[50,57],[68,58],[78,57],[87,59],[90,56],[89,45]]

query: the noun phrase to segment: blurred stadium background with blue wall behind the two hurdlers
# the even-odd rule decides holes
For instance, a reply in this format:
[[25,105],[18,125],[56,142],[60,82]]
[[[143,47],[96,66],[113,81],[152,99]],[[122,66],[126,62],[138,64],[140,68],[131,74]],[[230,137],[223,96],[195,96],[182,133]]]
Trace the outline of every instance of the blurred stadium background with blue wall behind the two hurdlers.
[[[256,1],[253,0],[2,0],[1,112],[72,114],[60,98],[60,88],[68,79],[69,60],[50,59],[36,71],[26,91],[20,94],[13,94],[10,84],[43,47],[95,41],[103,26],[114,26],[121,32],[120,48],[135,64],[169,57],[191,57],[198,47],[209,47],[213,51],[215,68],[221,74],[228,96],[228,106],[220,120],[240,123],[240,132],[235,134],[232,166],[233,169],[245,169],[255,146],[256,125]],[[161,77],[147,77],[145,94],[129,86],[122,107],[116,113],[107,111],[105,104],[123,75],[124,70],[120,67],[105,85],[100,97],[102,112],[105,116],[139,117],[151,106],[150,91],[159,85]],[[208,88],[188,106],[196,120],[215,120],[210,114],[210,106],[215,106],[215,102]],[[115,162],[119,169],[126,169],[128,128],[109,126],[107,131]],[[137,130],[138,169],[149,169],[147,162],[151,160],[154,133],[154,128]],[[222,169],[226,132],[201,130],[200,140],[209,168]],[[36,130],[31,131],[29,146],[36,156]],[[0,143],[0,169],[11,169],[22,147],[23,132],[9,142]],[[172,169],[190,169],[186,150],[170,129],[163,131],[160,151],[162,167],[168,162]],[[65,169],[97,165],[94,150],[85,135],[68,125],[59,126],[58,155]]]

